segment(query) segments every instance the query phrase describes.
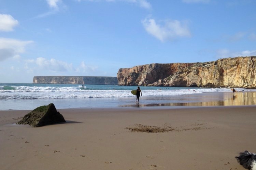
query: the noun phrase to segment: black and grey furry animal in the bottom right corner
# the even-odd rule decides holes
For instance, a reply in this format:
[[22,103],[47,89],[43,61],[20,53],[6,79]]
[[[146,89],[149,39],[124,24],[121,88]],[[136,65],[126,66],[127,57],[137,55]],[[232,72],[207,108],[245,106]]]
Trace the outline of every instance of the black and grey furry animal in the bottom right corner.
[[245,169],[256,170],[256,154],[248,151],[240,152],[236,156],[237,162],[240,163]]

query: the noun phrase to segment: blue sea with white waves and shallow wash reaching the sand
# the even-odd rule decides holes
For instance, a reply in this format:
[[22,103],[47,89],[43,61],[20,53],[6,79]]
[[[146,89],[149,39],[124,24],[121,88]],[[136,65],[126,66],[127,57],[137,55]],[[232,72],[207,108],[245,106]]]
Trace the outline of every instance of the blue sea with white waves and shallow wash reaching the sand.
[[[83,87],[84,86],[84,87]],[[236,104],[231,88],[188,88],[140,86],[142,96],[139,103],[131,90],[137,86],[78,84],[34,84],[0,83],[0,110],[33,110],[42,105],[54,103],[63,108],[105,108],[105,107],[146,107],[146,106],[187,106],[225,101]],[[255,105],[255,89],[236,89],[243,98],[250,98],[242,105]],[[246,92],[254,92],[252,96]],[[210,95],[209,95],[210,94]],[[239,99],[240,100],[240,99]],[[231,102],[229,102],[231,101]],[[226,102],[226,103],[227,103]],[[221,104],[224,103],[224,104]]]

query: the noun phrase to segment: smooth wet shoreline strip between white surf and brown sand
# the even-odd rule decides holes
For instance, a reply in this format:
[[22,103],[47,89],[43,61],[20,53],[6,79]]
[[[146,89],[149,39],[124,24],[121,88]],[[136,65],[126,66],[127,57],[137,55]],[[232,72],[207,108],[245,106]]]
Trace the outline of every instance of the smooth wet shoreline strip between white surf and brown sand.
[[[113,107],[148,107],[148,106],[238,106],[256,105],[256,91],[205,92],[174,96],[142,96],[125,98],[89,98],[89,99],[11,99],[2,101],[2,111],[33,110],[42,105],[54,103],[57,109],[63,108],[113,108]],[[17,106],[17,107],[16,107]]]

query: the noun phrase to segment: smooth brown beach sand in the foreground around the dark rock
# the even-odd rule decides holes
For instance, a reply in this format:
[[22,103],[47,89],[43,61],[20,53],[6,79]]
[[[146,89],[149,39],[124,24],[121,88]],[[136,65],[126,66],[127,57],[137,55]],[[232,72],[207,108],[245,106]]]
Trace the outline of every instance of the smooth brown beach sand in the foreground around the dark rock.
[[[1,169],[243,170],[256,152],[256,106],[58,109],[67,123],[16,125],[0,111]],[[141,125],[168,132],[132,132]]]

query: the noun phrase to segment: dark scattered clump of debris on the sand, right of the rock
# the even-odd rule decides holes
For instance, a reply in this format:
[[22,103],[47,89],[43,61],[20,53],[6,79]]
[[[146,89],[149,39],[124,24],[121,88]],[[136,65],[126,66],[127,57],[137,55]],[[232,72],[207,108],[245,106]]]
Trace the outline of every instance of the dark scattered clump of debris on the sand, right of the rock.
[[163,132],[169,132],[174,131],[174,128],[171,128],[171,126],[168,126],[166,124],[163,125],[163,127],[158,126],[148,126],[143,124],[134,124],[134,127],[131,128],[125,128],[129,129],[132,132],[146,132],[146,133],[163,133]]

